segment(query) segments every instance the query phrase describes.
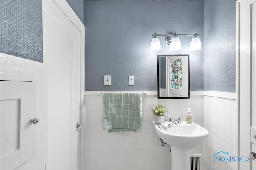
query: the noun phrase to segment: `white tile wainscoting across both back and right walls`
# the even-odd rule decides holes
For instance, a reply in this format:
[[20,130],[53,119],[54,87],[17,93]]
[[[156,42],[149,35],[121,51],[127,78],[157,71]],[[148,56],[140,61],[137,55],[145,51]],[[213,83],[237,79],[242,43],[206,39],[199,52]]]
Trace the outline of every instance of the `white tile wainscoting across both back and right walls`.
[[[212,154],[217,150],[234,150],[235,126],[232,117],[234,100],[224,99],[220,92],[190,91],[190,99],[161,99],[156,92],[142,95],[142,132],[112,132],[102,130],[102,95],[97,91],[85,91],[84,160],[85,170],[170,170],[170,146],[161,146],[160,139],[152,127],[152,107],[158,103],[167,105],[166,115],[186,119],[186,108],[190,107],[193,121],[205,126],[210,136],[204,147],[198,146],[191,154],[203,155],[204,169],[231,169],[232,165],[218,166],[213,163]],[[204,96],[206,93],[207,96]],[[222,94],[222,93],[221,93]],[[221,96],[221,98],[216,97]],[[226,95],[224,95],[226,96]],[[225,104],[224,104],[225,103]],[[225,114],[225,116],[224,116]],[[212,119],[212,120],[211,120]],[[216,127],[216,128],[215,128]],[[218,130],[218,132],[216,131]],[[223,146],[222,148],[220,146]],[[227,147],[227,148],[226,148]],[[205,164],[205,165],[204,165]],[[224,167],[224,168],[222,168]]]

